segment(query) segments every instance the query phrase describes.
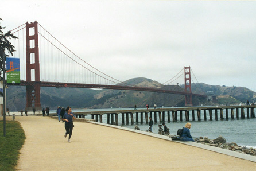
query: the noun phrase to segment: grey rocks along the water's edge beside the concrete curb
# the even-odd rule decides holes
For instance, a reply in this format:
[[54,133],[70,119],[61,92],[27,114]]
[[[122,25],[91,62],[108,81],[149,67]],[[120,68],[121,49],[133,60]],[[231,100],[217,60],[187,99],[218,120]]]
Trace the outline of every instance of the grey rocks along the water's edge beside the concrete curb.
[[[166,136],[172,138],[173,141],[180,141],[179,135],[169,134],[169,129],[168,129],[167,133],[164,133],[161,125],[158,125],[158,126],[159,126],[158,134],[166,135]],[[137,125],[134,127],[134,129],[140,130]],[[146,131],[148,132],[148,130],[146,130]],[[226,139],[224,137],[222,137],[221,135],[219,135],[219,137],[216,139],[210,139],[208,137],[199,137],[199,138],[193,138],[193,139],[195,140],[195,142],[202,143],[204,145],[219,147],[219,148],[226,149],[226,150],[231,150],[231,151],[236,151],[236,152],[243,153],[243,154],[249,154],[252,156],[256,156],[256,149],[247,148],[245,146],[238,146],[235,142],[227,142]]]

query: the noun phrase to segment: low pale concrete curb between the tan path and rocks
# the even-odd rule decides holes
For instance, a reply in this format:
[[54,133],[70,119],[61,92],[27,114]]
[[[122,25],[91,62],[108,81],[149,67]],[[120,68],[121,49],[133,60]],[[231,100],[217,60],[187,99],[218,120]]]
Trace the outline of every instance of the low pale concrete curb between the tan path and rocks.
[[[99,122],[94,122],[94,121],[88,121],[87,123],[92,123],[92,124],[102,125],[102,126],[107,126],[107,127],[113,127],[115,129],[126,130],[126,131],[130,131],[130,132],[133,132],[133,133],[148,135],[150,137],[155,137],[155,138],[160,138],[160,139],[164,139],[164,140],[167,140],[167,141],[172,141],[171,138],[169,138],[168,136],[165,136],[165,135],[159,135],[159,134],[154,134],[154,133],[149,133],[149,132],[145,132],[145,131],[129,129],[129,128],[126,128],[126,127],[120,127],[120,126],[115,126],[115,125],[108,125],[108,124],[105,124],[105,123],[99,123]],[[183,141],[172,141],[172,142],[182,143],[184,145],[194,146],[194,147],[198,147],[198,148],[201,148],[201,149],[214,151],[216,153],[226,154],[228,156],[241,158],[243,160],[249,160],[249,161],[252,161],[252,162],[256,162],[256,157],[255,156],[239,153],[239,152],[236,152],[236,151],[230,151],[230,150],[221,149],[221,148],[218,148],[218,147],[208,146],[208,145],[204,145],[204,144],[201,144],[201,143],[195,143],[195,142],[183,142]]]

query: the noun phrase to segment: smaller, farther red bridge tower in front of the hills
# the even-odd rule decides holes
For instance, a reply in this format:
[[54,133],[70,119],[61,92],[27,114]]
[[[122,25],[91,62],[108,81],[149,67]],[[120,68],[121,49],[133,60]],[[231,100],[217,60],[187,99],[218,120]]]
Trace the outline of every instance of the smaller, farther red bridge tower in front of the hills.
[[[184,67],[184,73],[185,73],[185,92],[187,92],[187,89],[189,89],[189,93],[192,94],[190,66]],[[192,95],[185,95],[185,106],[193,106]]]

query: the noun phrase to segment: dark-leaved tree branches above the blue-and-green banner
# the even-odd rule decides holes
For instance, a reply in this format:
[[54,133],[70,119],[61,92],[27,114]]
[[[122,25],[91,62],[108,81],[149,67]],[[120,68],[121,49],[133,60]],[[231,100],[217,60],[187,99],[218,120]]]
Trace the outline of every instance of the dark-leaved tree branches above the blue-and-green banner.
[[[0,18],[0,20],[2,20]],[[13,34],[11,34],[11,32],[7,32],[7,33],[3,33],[3,29],[5,29],[5,27],[2,27],[0,25],[0,75],[2,75],[2,68],[3,68],[3,60],[2,60],[2,52],[7,51],[8,53],[10,53],[11,55],[13,55],[14,50],[14,46],[11,45],[11,42],[9,40],[16,39],[18,37],[14,36]],[[5,55],[5,57],[8,57],[9,55]],[[6,59],[6,58],[5,58]]]

